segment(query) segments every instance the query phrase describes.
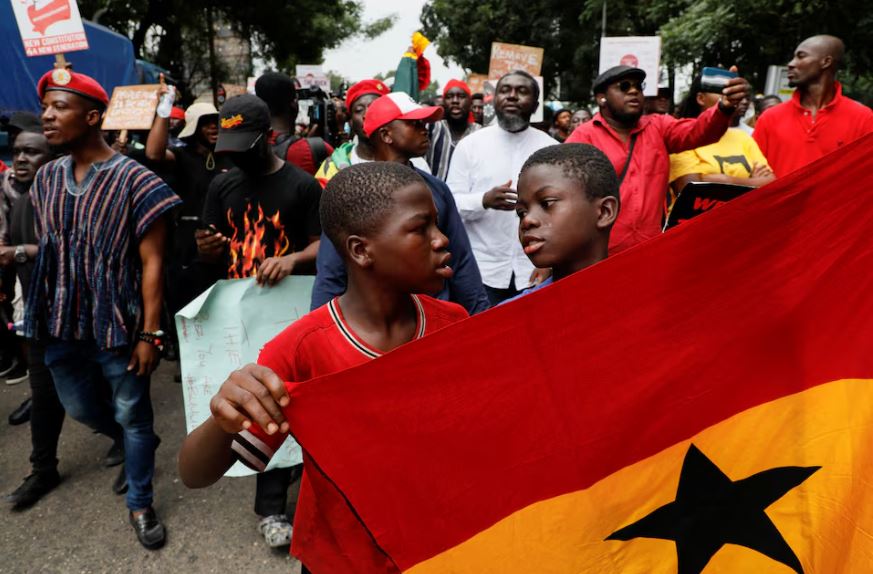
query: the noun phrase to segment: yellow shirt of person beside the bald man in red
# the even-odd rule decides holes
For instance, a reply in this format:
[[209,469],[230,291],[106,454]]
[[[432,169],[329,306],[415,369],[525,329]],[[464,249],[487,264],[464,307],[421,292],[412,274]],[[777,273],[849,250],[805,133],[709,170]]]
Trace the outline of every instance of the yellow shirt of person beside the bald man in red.
[[714,144],[671,154],[670,182],[692,173],[750,177],[756,163],[769,167],[752,136],[739,128],[729,128]]

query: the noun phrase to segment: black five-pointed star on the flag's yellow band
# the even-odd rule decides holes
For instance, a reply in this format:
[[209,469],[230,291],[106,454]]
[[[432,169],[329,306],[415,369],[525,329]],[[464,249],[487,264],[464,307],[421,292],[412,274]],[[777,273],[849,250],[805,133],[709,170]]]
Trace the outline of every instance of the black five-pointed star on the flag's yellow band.
[[673,540],[679,574],[699,574],[725,544],[745,546],[803,574],[800,560],[764,510],[819,468],[771,468],[734,482],[692,444],[676,500],[606,539]]

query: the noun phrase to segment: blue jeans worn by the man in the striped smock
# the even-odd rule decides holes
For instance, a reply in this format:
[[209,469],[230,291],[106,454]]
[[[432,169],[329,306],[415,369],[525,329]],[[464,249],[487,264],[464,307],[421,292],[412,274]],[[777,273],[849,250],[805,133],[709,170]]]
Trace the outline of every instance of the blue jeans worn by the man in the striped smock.
[[[128,372],[129,361],[129,348],[101,351],[93,341],[51,339],[45,349],[45,364],[67,414],[101,433],[121,425],[127,507],[139,510],[152,503],[157,439],[150,379]],[[101,389],[103,380],[111,389],[111,410]]]

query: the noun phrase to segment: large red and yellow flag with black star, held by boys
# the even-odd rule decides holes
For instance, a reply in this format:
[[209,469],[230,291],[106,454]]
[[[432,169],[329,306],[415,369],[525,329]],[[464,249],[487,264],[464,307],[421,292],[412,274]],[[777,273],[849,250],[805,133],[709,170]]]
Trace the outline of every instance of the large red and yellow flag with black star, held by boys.
[[347,512],[325,517],[347,550],[304,563],[871,571],[871,146],[294,386],[314,488]]

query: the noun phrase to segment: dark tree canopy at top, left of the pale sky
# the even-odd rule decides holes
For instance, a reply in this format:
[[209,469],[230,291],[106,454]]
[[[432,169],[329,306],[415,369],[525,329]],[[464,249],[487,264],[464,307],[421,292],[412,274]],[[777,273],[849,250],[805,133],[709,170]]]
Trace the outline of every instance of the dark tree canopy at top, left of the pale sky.
[[207,7],[216,23],[250,41],[254,56],[286,72],[297,63],[321,62],[326,49],[349,37],[375,37],[394,21],[392,15],[365,23],[358,0],[79,0],[84,17],[129,37],[137,57],[170,70],[184,85],[209,74]]

